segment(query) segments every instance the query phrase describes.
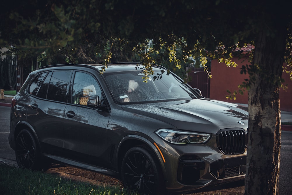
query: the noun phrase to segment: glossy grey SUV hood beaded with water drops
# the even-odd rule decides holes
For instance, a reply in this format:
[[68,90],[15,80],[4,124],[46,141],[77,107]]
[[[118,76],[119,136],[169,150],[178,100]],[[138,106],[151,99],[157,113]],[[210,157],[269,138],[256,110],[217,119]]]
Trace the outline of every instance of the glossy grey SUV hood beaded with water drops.
[[180,130],[215,134],[220,129],[247,130],[248,127],[246,110],[237,104],[213,99],[131,104],[121,107],[129,112],[164,121]]

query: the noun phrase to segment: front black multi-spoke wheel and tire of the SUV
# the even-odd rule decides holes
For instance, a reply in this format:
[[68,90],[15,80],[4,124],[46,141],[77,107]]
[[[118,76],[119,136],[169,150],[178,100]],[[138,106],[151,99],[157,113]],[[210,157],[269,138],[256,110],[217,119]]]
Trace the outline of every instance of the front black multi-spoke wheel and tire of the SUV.
[[155,159],[154,152],[147,146],[129,149],[121,165],[124,187],[139,194],[166,194],[160,167]]

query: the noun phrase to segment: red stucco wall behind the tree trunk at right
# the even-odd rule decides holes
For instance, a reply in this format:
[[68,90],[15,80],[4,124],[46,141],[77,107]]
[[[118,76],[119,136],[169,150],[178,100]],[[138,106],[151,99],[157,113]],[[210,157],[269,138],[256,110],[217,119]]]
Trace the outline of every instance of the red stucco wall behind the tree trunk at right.
[[[244,59],[233,59],[234,62],[239,64],[236,68],[227,67],[224,63],[219,63],[217,60],[213,60],[211,63],[211,83],[210,83],[210,98],[218,99],[233,103],[248,103],[247,92],[244,95],[237,94],[236,100],[226,99],[225,96],[228,95],[226,90],[233,92],[238,90],[238,85],[244,82],[244,79],[248,78],[248,75],[241,75],[240,68],[242,65],[248,63],[247,58]],[[289,75],[286,73],[282,74],[282,78],[285,80],[285,84],[288,84],[287,92],[280,89],[280,105],[282,111],[292,112],[292,81],[289,79]]]

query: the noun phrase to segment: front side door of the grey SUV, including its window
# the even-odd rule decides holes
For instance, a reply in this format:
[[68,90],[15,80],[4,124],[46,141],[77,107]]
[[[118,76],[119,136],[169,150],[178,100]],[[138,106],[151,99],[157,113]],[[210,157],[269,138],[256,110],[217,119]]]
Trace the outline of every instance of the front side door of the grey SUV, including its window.
[[[90,96],[103,97],[94,75],[75,72],[64,116],[64,149],[77,161],[100,164],[107,155],[107,124],[110,112],[87,106]],[[71,100],[70,100],[71,99]]]

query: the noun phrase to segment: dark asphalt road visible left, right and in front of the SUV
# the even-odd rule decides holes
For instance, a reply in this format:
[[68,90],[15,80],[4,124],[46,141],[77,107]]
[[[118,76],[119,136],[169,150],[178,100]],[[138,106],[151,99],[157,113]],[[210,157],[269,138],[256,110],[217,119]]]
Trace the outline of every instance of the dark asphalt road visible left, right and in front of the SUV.
[[[15,153],[8,143],[10,131],[10,107],[0,106],[0,159],[15,161]],[[281,195],[292,194],[292,132],[282,131],[280,191]],[[218,187],[201,189],[196,195],[207,194],[244,194],[244,182],[233,182]]]

